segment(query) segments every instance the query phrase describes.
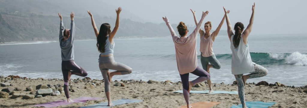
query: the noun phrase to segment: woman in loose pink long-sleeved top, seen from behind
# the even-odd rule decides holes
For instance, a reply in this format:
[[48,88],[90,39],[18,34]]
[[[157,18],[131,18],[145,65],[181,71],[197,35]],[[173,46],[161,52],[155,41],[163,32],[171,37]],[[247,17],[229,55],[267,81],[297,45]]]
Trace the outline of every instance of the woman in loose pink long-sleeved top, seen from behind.
[[[195,30],[189,36],[187,36],[188,34],[187,26],[185,25],[185,23],[180,22],[179,25],[177,26],[180,37],[176,35],[167,17],[162,17],[167,27],[169,28],[169,31],[171,32],[173,41],[175,43],[177,68],[183,86],[183,96],[185,98],[185,102],[187,103],[188,108],[192,107],[189,102],[189,92],[192,86],[197,83],[210,79],[209,73],[207,73],[204,69],[201,69],[199,68],[199,66],[197,66],[197,53],[196,53],[196,36],[198,35],[200,26],[203,23],[203,20],[208,13],[209,13],[208,11],[203,12],[201,19],[197,24]],[[192,73],[199,77],[193,81],[188,81],[189,73]]]

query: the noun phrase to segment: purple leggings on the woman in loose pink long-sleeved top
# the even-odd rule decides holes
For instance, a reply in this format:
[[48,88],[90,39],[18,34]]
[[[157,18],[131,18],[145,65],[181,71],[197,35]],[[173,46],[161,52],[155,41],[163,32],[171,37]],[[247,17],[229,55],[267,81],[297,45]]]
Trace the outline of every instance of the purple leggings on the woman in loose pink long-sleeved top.
[[[197,68],[191,72],[192,74],[199,76],[198,78],[196,78],[195,80],[192,80],[193,85],[209,80],[210,79],[210,74],[205,71],[204,69],[199,68],[199,66],[197,66]],[[189,88],[189,73],[186,74],[180,74],[181,77],[181,82],[182,82],[182,86],[183,86],[183,97],[185,97],[185,102],[187,102],[187,104],[190,104],[190,99],[189,96],[190,94],[188,93],[188,88]]]

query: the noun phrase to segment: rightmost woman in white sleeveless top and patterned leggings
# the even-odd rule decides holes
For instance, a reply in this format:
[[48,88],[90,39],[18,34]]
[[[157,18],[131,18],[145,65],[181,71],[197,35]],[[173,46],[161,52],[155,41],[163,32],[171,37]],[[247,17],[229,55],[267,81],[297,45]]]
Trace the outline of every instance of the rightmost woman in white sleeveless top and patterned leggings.
[[[229,10],[228,10],[229,11]],[[239,98],[242,103],[243,108],[247,108],[245,104],[245,96],[244,96],[244,86],[247,79],[251,78],[259,78],[266,76],[268,70],[262,67],[261,65],[257,65],[251,60],[251,55],[249,52],[247,38],[251,33],[251,28],[254,22],[254,13],[255,13],[255,3],[252,6],[252,14],[249,24],[244,32],[244,25],[241,22],[237,22],[235,24],[235,34],[232,32],[230,20],[227,15],[227,11],[224,8],[226,23],[227,23],[227,32],[228,38],[230,40],[230,49],[232,52],[232,60],[231,60],[231,73],[235,75],[235,79],[238,83],[238,93]],[[245,73],[250,73],[248,75],[243,75]]]

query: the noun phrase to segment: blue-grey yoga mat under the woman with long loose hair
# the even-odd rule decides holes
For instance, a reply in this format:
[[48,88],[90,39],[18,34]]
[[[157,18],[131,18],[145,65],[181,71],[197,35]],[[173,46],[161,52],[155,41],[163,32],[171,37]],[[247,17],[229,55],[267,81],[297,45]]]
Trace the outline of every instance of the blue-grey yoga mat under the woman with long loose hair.
[[[119,100],[115,100],[112,101],[113,105],[112,106],[117,106],[117,105],[122,105],[122,104],[126,104],[126,103],[136,103],[136,102],[142,102],[143,100],[133,100],[133,99],[119,99]],[[91,106],[83,106],[80,108],[109,108],[112,106],[107,106],[108,102],[101,102],[99,104],[95,104],[95,105],[91,105]]]

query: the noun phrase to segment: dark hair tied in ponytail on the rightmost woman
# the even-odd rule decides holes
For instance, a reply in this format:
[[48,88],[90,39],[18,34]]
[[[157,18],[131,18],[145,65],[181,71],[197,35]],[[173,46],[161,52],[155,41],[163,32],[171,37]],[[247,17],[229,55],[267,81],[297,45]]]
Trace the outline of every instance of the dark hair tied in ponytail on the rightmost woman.
[[232,42],[233,46],[237,48],[239,46],[240,40],[241,40],[241,35],[242,31],[244,29],[244,25],[241,22],[235,23],[235,35],[233,36]]

